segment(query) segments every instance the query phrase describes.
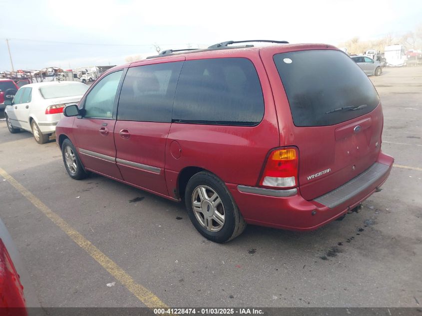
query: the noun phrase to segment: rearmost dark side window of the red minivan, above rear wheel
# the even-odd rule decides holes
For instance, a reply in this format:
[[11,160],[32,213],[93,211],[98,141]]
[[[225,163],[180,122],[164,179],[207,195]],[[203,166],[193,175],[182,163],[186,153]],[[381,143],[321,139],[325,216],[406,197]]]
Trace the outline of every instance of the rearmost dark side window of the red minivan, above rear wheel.
[[246,58],[185,61],[177,83],[173,120],[256,125],[264,116],[261,83]]

